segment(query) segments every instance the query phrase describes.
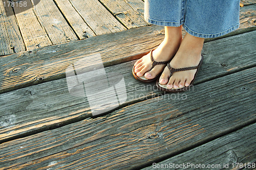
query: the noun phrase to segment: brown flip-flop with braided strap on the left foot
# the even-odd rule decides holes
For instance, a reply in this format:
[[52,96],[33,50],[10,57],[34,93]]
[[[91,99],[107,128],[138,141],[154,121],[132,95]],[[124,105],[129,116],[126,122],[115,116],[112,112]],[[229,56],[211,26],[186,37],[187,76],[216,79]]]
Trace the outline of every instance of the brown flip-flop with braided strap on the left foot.
[[[152,50],[152,51],[150,52],[150,59],[151,59],[151,66],[152,66],[151,69],[154,68],[156,65],[168,64],[168,63],[169,63],[169,61],[160,61],[160,62],[155,61],[155,60],[153,59],[153,55],[152,55],[152,52],[153,52],[153,51],[154,51],[154,50]],[[153,82],[153,81],[157,80],[157,78],[159,77],[159,75],[157,75],[154,79],[146,79],[146,78],[144,77],[144,75],[141,76],[141,77],[138,77],[137,74],[136,74],[135,71],[134,71],[134,67],[135,67],[135,66],[133,66],[133,76],[135,77],[135,79],[137,79],[137,80],[139,80],[139,81],[142,81],[142,82],[145,82],[145,83],[149,83],[149,82]]]

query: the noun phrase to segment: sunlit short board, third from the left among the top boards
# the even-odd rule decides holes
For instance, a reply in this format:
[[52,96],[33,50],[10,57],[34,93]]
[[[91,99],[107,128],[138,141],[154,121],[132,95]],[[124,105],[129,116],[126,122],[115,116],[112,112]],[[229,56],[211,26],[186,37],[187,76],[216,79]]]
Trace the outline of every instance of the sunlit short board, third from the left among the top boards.
[[40,0],[33,9],[53,44],[77,40],[73,30],[52,0]]

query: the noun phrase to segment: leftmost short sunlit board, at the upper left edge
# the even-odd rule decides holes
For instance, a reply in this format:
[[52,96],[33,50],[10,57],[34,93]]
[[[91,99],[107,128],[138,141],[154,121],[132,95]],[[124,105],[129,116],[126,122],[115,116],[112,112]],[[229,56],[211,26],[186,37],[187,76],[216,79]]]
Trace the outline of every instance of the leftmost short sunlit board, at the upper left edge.
[[12,7],[0,3],[0,56],[26,50]]

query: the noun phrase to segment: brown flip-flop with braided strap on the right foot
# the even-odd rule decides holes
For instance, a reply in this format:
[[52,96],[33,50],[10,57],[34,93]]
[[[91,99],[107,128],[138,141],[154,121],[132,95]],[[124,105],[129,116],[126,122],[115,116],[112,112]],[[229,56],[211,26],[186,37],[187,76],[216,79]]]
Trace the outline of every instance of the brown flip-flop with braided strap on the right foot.
[[[176,72],[176,71],[185,71],[185,70],[190,70],[190,69],[197,69],[197,72],[198,72],[198,70],[199,70],[200,66],[202,65],[202,63],[203,63],[203,55],[201,55],[201,60],[200,60],[200,62],[199,62],[199,64],[198,64],[198,66],[195,66],[195,67],[185,67],[185,68],[177,68],[177,69],[176,69],[176,68],[170,67],[170,65],[169,65],[169,63],[168,63],[168,64],[167,64],[167,67],[168,67],[168,69],[170,70],[170,76],[169,76],[169,77],[171,77],[171,76],[173,75],[173,73]],[[196,78],[196,76],[197,76],[197,72],[196,72],[196,74],[195,74],[195,76],[194,76],[194,79],[191,81],[191,83],[190,83],[189,86],[187,86],[187,87],[184,86],[184,87],[181,87],[181,88],[171,88],[171,89],[169,89],[169,88],[166,87],[166,84],[164,84],[164,85],[160,84],[160,83],[159,83],[159,79],[157,80],[156,85],[157,85],[157,87],[158,87],[160,90],[166,91],[166,92],[186,91],[186,90],[189,90],[189,88],[190,88],[191,85],[193,85],[193,83],[194,83],[194,81],[195,81],[195,78]]]

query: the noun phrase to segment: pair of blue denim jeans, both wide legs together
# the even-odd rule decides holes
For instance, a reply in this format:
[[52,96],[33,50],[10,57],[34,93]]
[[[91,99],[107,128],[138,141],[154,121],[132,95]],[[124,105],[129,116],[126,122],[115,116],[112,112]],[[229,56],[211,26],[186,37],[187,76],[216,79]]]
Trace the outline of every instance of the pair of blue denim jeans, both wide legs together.
[[214,38],[239,28],[240,0],[145,0],[146,21]]

